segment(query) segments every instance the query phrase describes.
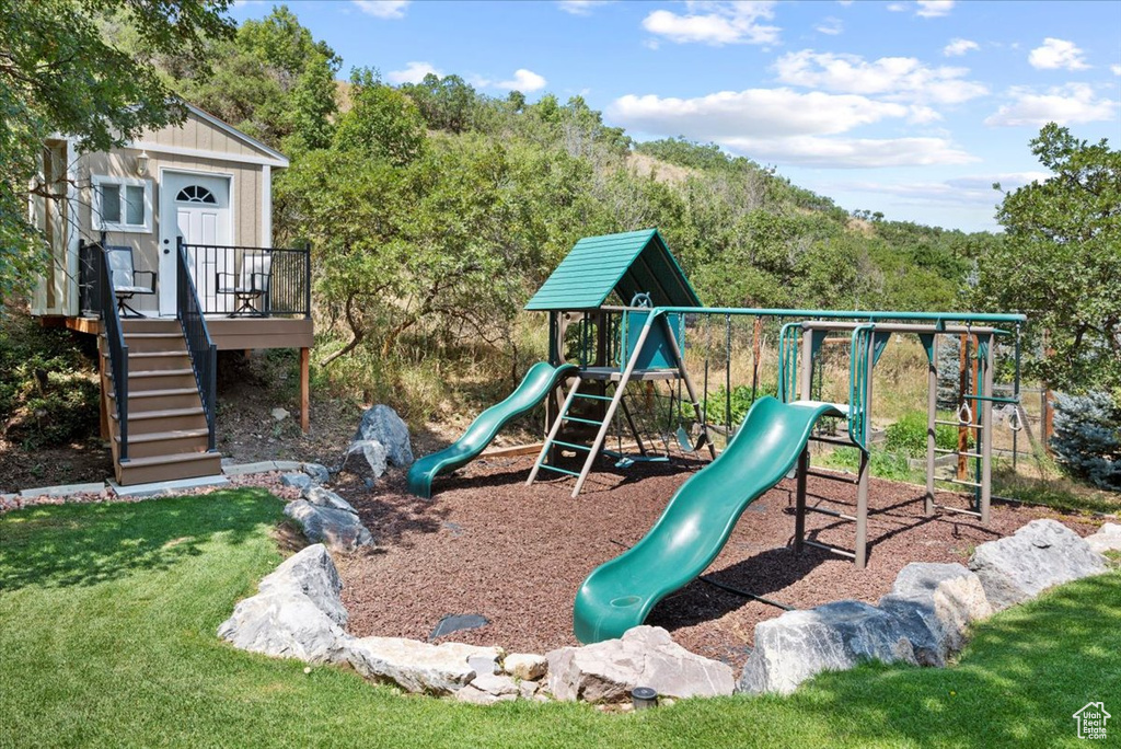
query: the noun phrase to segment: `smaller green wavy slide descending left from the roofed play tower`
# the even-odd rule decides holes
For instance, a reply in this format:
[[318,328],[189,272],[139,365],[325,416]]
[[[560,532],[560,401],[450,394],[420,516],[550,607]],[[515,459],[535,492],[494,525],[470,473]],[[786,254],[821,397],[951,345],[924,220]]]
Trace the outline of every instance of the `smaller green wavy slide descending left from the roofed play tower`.
[[553,367],[539,361],[529,368],[521,385],[502,403],[495,404],[480,414],[463,436],[445,450],[425,455],[409,469],[409,492],[425,499],[432,497],[432,480],[441,473],[448,473],[466,465],[494,440],[499,429],[526,412],[553,391],[563,380],[574,377],[580,368],[575,364]]

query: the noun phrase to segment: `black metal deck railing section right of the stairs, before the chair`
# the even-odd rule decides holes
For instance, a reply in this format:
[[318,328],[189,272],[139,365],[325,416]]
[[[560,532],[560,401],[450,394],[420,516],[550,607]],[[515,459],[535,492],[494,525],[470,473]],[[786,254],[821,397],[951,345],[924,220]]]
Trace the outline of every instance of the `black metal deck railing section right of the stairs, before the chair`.
[[[187,243],[183,249],[203,314],[312,316],[309,250]],[[251,292],[249,309],[235,289]]]

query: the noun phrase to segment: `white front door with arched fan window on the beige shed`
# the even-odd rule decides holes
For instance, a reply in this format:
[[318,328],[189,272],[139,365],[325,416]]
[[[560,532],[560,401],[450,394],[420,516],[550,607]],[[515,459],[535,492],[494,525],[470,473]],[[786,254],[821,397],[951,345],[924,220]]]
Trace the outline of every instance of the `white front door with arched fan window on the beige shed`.
[[[219,272],[234,272],[231,244],[230,177],[164,170],[159,189],[159,314],[175,315],[175,248],[182,237],[187,265],[205,312],[229,312],[232,304],[217,293]],[[231,307],[232,308],[232,307]]]

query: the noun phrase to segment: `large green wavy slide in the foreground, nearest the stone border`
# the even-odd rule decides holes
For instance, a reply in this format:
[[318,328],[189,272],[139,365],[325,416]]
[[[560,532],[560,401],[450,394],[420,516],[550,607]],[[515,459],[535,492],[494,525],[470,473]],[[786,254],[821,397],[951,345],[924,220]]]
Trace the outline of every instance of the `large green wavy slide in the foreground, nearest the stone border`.
[[650,531],[587,576],[573,608],[576,639],[621,637],[703,573],[748,505],[790,472],[826,415],[842,414],[832,404],[757,400],[724,452],[682,484]]

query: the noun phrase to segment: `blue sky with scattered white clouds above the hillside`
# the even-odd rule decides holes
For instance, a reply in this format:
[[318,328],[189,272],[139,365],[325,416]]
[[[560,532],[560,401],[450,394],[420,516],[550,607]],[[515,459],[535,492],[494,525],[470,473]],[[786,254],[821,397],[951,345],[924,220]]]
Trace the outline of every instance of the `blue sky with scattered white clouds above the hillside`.
[[997,229],[991,184],[1046,176],[1028,141],[1050,120],[1121,148],[1121,0],[287,4],[343,75],[578,94],[639,140],[714,141],[892,220]]

